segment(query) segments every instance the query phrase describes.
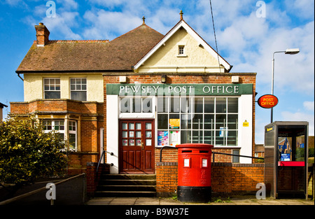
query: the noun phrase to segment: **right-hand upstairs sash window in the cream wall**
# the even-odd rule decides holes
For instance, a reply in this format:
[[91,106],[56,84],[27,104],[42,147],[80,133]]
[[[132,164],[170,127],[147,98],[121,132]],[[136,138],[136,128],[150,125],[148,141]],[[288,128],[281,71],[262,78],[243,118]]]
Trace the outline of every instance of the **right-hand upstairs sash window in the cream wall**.
[[87,101],[87,83],[86,78],[70,79],[71,99],[78,101]]

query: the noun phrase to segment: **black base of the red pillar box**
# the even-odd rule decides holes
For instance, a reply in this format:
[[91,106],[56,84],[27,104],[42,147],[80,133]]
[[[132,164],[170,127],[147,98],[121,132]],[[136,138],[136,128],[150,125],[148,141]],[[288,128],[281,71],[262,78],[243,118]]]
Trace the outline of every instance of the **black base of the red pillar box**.
[[210,202],[211,186],[178,186],[177,200],[180,202]]

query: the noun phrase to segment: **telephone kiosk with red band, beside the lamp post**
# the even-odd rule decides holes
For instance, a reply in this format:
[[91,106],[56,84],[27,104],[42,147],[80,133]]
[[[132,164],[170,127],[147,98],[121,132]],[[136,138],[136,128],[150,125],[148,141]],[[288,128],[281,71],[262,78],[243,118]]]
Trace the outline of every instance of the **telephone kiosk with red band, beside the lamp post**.
[[272,122],[265,126],[267,195],[307,199],[308,122]]

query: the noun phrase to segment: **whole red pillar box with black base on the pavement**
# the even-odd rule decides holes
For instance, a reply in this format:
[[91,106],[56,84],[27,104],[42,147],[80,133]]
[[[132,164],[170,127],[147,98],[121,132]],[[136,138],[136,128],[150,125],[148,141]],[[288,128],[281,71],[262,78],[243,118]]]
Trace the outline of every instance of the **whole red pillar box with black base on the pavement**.
[[211,146],[183,143],[179,153],[177,199],[181,202],[211,201]]

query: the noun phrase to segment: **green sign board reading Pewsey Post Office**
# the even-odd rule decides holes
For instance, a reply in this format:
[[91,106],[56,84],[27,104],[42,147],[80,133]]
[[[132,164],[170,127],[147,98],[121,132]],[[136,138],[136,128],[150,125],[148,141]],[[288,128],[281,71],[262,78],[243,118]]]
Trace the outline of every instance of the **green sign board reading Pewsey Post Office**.
[[253,94],[253,84],[106,84],[107,95],[241,95]]

